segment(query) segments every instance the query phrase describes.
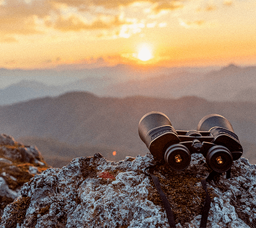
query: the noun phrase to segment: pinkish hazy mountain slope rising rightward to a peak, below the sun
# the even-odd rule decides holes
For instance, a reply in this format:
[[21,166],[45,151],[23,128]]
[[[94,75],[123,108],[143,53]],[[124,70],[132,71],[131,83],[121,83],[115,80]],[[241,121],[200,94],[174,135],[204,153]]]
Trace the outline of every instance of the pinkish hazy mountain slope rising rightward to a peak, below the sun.
[[183,71],[156,74],[107,87],[108,96],[144,95],[153,97],[198,96],[210,101],[255,102],[256,67],[230,64],[221,70],[202,72]]

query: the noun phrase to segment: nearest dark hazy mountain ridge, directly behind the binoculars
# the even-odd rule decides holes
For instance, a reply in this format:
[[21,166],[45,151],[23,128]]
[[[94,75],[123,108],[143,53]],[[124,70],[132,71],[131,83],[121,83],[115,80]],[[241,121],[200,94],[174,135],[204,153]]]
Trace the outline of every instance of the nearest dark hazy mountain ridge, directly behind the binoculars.
[[58,166],[58,161],[63,165],[63,160],[94,152],[119,160],[148,152],[139,139],[138,123],[150,111],[165,113],[175,129],[184,130],[196,129],[199,120],[210,113],[223,115],[233,125],[245,156],[256,162],[256,103],[247,101],[215,102],[195,96],[118,98],[69,92],[0,107],[0,131],[37,145],[50,165],[53,160]]

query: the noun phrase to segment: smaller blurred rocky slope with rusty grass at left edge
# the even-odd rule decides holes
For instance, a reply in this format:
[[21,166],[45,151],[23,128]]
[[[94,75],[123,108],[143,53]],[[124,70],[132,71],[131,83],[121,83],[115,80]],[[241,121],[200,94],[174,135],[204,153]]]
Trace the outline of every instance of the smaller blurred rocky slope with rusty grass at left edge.
[[47,168],[37,148],[0,135],[0,217],[5,206],[21,196],[21,186]]

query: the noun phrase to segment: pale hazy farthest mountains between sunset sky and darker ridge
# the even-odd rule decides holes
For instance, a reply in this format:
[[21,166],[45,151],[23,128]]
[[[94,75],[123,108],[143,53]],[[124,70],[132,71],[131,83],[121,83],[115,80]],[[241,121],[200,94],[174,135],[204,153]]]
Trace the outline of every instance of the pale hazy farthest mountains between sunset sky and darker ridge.
[[[40,76],[80,78],[66,84],[49,86],[39,82]],[[189,68],[154,68],[145,70],[126,65],[74,71],[21,71],[0,69],[0,76],[11,74],[22,82],[0,89],[0,105],[14,104],[38,97],[57,96],[70,91],[86,91],[98,96],[150,96],[178,98],[198,96],[209,101],[256,102],[256,67],[230,64],[210,72]],[[25,76],[29,75],[29,76]],[[30,78],[30,79],[29,79]],[[37,81],[31,81],[31,78]],[[57,84],[57,83],[56,83]]]

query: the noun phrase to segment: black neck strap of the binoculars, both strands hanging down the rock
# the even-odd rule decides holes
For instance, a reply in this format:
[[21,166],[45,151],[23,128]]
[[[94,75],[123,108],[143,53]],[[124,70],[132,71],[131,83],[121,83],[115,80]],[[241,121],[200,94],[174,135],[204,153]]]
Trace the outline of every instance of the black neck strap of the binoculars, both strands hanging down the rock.
[[[161,184],[158,180],[158,177],[155,176],[152,172],[154,172],[156,165],[153,166],[149,166],[146,169],[149,169],[149,174],[146,173],[146,169],[144,171],[144,173],[146,174],[146,176],[151,176],[155,188],[157,188],[157,192],[159,193],[161,200],[163,202],[163,207],[165,207],[165,211],[166,211],[166,215],[167,215],[167,219],[170,225],[170,228],[175,228],[175,221],[174,221],[174,216],[173,216],[173,211],[171,210],[171,206],[169,201],[167,200],[167,197],[165,196],[165,193],[163,192],[163,190],[161,189]],[[205,190],[206,193],[206,198],[205,198],[205,205],[203,206],[203,210],[202,210],[202,217],[201,217],[201,223],[200,223],[200,228],[206,228],[206,224],[207,224],[207,218],[208,218],[208,214],[209,214],[209,210],[211,207],[211,197],[208,193],[207,190],[207,184],[206,184],[206,180],[203,179],[201,180],[202,186],[203,186],[203,190]]]

